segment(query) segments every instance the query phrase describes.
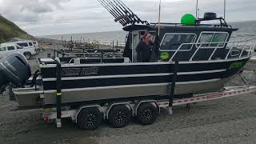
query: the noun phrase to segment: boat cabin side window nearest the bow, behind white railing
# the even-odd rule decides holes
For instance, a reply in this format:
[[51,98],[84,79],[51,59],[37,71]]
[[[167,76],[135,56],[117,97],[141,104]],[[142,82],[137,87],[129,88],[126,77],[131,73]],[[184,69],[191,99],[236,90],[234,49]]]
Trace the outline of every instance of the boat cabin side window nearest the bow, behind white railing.
[[203,48],[222,48],[229,34],[227,32],[202,32],[198,38],[198,47]]

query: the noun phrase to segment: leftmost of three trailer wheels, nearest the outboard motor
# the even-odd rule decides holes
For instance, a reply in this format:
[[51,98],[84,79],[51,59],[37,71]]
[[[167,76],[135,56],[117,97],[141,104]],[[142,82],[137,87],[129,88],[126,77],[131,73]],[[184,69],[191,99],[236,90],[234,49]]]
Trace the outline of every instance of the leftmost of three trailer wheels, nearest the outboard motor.
[[102,112],[97,107],[81,110],[78,114],[78,127],[84,130],[94,130],[102,123]]

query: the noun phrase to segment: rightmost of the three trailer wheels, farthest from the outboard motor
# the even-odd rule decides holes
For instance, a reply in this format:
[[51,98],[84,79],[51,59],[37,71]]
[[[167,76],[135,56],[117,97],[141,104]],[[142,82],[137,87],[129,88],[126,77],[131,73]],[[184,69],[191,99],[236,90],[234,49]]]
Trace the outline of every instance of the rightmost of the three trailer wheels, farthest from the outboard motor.
[[138,107],[136,120],[142,125],[150,125],[154,123],[157,117],[157,111],[157,108],[152,103],[142,103]]

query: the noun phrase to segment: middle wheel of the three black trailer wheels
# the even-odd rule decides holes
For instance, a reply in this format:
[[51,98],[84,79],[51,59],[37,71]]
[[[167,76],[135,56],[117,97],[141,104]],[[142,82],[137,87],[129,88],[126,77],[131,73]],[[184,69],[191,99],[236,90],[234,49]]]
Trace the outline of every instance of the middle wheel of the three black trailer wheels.
[[131,120],[131,111],[125,105],[113,106],[109,114],[110,125],[116,128],[127,126]]

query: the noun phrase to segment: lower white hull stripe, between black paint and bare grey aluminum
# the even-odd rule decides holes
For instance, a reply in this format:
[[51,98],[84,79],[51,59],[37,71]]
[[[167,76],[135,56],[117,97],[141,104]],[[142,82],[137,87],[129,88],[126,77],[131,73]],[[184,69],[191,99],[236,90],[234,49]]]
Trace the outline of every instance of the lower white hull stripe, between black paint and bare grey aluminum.
[[[215,82],[219,81],[221,78],[209,79],[203,81],[191,81],[191,82],[176,82],[177,85],[184,84],[196,84],[205,82]],[[130,88],[130,87],[147,87],[147,86],[170,86],[170,83],[151,83],[151,84],[139,84],[139,85],[122,85],[122,86],[98,86],[98,87],[86,87],[86,88],[74,88],[74,89],[63,89],[62,92],[72,92],[72,91],[84,91],[84,90],[107,90],[107,89],[118,89],[118,88]],[[54,93],[56,90],[44,90],[45,94]]]

